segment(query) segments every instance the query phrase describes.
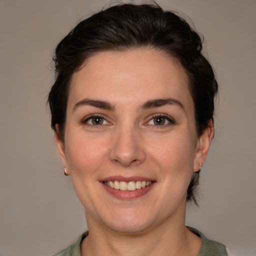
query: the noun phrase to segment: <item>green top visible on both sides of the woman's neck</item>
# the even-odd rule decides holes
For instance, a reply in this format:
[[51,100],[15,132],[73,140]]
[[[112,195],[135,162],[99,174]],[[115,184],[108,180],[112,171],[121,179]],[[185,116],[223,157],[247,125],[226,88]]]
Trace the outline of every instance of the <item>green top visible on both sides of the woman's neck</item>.
[[[202,245],[198,256],[227,256],[225,245],[213,240],[207,239],[200,231],[193,227],[187,226],[189,230],[201,237]],[[82,233],[75,243],[71,244],[67,248],[61,250],[53,256],[81,256],[80,244],[82,240],[88,235],[88,231]]]

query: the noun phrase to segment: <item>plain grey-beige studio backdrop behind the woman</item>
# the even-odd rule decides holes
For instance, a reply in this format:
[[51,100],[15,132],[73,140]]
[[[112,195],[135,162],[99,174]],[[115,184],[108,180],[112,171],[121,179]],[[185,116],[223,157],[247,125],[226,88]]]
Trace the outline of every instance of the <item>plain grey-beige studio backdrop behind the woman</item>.
[[[0,0],[1,256],[51,255],[86,229],[83,207],[63,175],[45,102],[57,42],[107,2]],[[256,1],[157,2],[186,13],[204,35],[220,87],[200,206],[188,208],[186,224],[235,255],[254,256]]]

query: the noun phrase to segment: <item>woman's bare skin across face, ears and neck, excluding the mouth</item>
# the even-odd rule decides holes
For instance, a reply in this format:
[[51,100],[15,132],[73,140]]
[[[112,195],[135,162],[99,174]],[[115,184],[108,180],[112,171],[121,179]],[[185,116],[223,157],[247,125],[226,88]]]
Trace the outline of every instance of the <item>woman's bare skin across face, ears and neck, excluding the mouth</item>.
[[[174,101],[145,104],[166,98]],[[107,101],[108,108],[91,100]],[[93,125],[91,115],[102,124]],[[55,132],[85,208],[89,235],[81,254],[197,255],[201,239],[184,226],[186,190],[212,136],[211,121],[196,134],[187,76],[177,61],[152,49],[91,56],[72,76],[64,142]],[[109,176],[153,184],[139,197],[120,199],[101,182]]]

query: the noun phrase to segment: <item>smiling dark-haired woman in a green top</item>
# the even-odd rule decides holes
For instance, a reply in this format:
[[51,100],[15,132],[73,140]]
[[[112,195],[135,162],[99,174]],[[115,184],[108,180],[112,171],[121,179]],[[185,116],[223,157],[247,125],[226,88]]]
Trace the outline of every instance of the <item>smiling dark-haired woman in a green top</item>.
[[155,4],[100,11],[57,45],[51,126],[89,231],[56,255],[226,255],[184,224],[214,134],[201,50]]

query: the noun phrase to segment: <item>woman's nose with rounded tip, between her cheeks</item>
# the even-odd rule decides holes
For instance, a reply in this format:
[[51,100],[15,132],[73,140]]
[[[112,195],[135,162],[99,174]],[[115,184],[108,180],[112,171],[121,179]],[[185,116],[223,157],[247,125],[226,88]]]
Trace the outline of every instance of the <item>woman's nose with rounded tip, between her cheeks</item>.
[[142,163],[146,154],[143,149],[143,139],[134,127],[118,128],[113,134],[110,160],[125,167]]

